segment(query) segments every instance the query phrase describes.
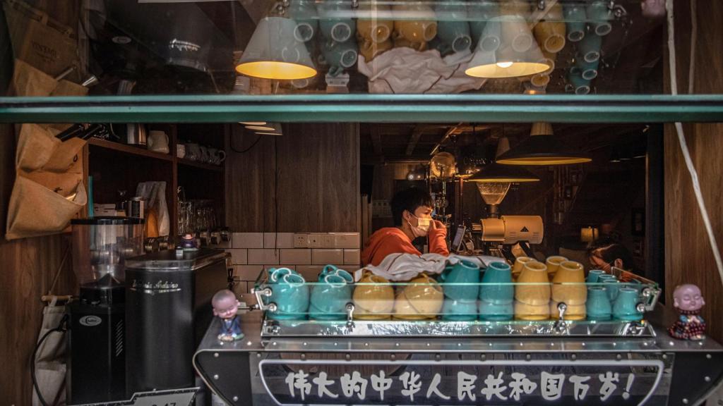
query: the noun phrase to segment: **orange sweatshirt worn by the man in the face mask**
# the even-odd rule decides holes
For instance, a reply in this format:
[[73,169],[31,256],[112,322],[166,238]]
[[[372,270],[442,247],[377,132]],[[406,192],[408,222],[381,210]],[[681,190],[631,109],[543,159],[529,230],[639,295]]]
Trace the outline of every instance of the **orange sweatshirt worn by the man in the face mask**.
[[[447,236],[446,228],[437,228],[429,230],[429,252],[441,255],[449,255],[445,237]],[[395,227],[380,228],[375,231],[361,251],[361,263],[364,265],[379,265],[382,259],[389,254],[415,254],[422,255],[413,245],[406,234]]]

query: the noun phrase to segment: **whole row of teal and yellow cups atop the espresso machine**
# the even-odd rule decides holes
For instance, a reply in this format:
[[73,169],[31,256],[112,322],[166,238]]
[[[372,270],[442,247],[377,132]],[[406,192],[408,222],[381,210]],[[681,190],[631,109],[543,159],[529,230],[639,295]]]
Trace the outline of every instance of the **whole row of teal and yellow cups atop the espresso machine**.
[[446,267],[439,282],[423,274],[396,291],[371,272],[354,284],[348,272],[333,265],[322,270],[315,284],[292,269],[270,269],[269,302],[276,308],[269,316],[342,320],[346,305],[354,303],[356,319],[419,320],[441,314],[449,321],[534,321],[557,317],[558,304],[565,303],[568,320],[642,319],[641,290],[619,284],[614,275],[593,270],[585,279],[582,265],[562,256],[549,257],[545,264],[521,257],[515,268],[521,268],[516,278],[505,262],[492,262],[483,273],[476,264],[460,261]]

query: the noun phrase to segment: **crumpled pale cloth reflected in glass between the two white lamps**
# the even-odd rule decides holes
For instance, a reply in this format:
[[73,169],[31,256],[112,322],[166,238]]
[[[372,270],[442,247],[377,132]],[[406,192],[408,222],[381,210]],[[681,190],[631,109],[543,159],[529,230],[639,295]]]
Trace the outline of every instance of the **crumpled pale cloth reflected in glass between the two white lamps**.
[[372,61],[359,56],[358,69],[367,76],[369,93],[460,93],[477,90],[486,79],[467,76],[472,53],[442,58],[437,50],[392,48]]

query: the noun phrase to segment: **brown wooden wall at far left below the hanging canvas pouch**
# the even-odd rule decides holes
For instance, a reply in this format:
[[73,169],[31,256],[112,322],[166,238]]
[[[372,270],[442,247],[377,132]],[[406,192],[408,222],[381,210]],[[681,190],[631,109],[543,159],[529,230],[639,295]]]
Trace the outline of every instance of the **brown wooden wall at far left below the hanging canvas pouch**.
[[[43,320],[40,296],[48,293],[69,246],[68,235],[5,241],[7,203],[14,182],[15,137],[0,125],[0,394],[7,405],[30,405],[30,355]],[[77,293],[68,256],[54,293]]]

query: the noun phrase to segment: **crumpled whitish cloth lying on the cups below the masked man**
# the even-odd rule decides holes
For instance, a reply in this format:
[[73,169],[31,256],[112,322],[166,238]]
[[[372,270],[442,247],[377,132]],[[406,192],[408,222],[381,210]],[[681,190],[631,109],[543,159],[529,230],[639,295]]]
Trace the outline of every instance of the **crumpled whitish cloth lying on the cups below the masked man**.
[[425,272],[427,274],[441,274],[447,264],[456,264],[461,260],[476,264],[481,269],[487,267],[490,262],[505,262],[498,256],[463,256],[452,254],[444,256],[440,254],[389,254],[382,259],[379,265],[367,265],[354,272],[354,280],[361,280],[364,271],[372,272],[393,282],[404,282],[414,279],[417,275]]

